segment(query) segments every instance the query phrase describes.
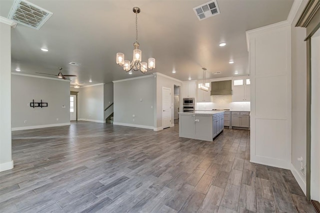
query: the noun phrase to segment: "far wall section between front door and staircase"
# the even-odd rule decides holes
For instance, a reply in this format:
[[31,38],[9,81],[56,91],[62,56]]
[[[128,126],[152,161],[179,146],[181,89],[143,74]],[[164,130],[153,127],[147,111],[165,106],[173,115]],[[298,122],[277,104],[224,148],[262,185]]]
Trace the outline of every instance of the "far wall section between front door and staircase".
[[80,87],[78,92],[80,113],[78,120],[105,122],[103,119],[103,84]]

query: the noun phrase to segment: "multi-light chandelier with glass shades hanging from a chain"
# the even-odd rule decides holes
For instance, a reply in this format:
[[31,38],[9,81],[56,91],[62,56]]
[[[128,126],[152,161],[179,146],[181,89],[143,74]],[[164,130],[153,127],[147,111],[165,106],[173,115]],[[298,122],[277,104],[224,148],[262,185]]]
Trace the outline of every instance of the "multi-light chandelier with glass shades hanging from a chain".
[[133,59],[130,62],[129,60],[124,60],[124,54],[122,52],[116,53],[116,63],[123,67],[125,72],[131,71],[141,71],[145,73],[147,70],[152,70],[155,67],[155,59],[150,57],[148,59],[148,64],[146,62],[141,62],[141,50],[139,49],[138,43],[138,13],[140,12],[139,7],[133,7],[133,12],[135,13],[135,42],[133,43]]

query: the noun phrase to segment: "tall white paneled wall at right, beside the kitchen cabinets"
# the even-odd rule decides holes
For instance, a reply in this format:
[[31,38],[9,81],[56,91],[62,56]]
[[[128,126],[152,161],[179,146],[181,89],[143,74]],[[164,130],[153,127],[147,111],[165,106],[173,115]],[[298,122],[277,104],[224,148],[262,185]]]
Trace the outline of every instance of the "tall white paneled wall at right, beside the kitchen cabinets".
[[250,161],[291,165],[291,27],[247,31],[251,81]]

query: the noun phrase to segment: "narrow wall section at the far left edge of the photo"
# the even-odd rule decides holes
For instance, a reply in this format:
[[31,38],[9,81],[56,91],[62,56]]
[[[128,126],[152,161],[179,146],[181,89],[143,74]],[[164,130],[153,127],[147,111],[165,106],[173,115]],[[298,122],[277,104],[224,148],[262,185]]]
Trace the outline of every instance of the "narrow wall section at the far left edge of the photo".
[[[2,18],[2,17],[0,17]],[[1,19],[0,19],[1,20]],[[0,21],[0,171],[13,168],[11,158],[11,26]]]

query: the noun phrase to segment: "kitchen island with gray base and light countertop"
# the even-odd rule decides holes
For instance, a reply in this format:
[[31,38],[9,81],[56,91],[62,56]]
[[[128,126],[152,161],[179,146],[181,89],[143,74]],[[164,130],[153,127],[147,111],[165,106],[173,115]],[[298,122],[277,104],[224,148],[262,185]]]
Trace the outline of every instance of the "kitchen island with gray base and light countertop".
[[223,111],[179,112],[179,137],[213,141],[223,131]]

